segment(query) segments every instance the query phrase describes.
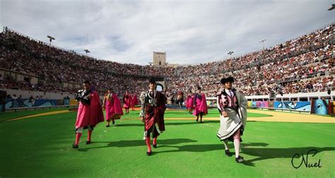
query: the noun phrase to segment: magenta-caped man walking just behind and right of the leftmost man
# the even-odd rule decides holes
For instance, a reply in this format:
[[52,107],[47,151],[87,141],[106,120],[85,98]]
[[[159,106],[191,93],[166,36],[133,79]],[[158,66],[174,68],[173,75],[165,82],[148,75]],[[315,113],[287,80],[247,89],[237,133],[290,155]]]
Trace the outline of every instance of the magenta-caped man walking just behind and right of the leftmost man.
[[117,94],[112,93],[112,89],[107,90],[107,95],[103,100],[103,108],[106,110],[106,121],[107,126],[110,126],[110,121],[112,120],[112,124],[115,124],[115,119],[120,119],[123,115],[121,102]]

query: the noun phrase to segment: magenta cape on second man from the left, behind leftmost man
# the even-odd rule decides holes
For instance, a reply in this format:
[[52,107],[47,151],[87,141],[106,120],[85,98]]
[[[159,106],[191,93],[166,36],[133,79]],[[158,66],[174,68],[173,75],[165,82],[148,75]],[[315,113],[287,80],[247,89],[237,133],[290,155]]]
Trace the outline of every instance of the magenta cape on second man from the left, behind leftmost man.
[[121,102],[117,94],[112,94],[112,100],[106,100],[106,121],[110,121],[110,119],[120,119],[123,115]]

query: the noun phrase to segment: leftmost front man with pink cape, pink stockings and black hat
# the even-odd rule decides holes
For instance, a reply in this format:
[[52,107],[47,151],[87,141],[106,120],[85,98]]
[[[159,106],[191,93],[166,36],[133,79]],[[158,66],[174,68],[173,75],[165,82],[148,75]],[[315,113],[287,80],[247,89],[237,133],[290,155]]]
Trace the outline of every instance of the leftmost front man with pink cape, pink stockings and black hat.
[[100,97],[96,91],[91,90],[90,82],[83,82],[82,95],[76,97],[79,102],[76,119],[76,141],[72,148],[78,148],[78,143],[83,133],[83,129],[88,129],[88,138],[86,144],[90,144],[90,137],[94,127],[101,121],[104,121]]

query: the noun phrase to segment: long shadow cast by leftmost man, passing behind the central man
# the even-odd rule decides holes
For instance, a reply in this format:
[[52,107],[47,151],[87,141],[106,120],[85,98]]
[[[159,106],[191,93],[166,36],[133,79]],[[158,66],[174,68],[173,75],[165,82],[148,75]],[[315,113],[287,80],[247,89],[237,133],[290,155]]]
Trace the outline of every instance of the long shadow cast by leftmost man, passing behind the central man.
[[[160,140],[157,139],[158,146],[160,145],[176,145],[179,143],[192,143],[196,142],[194,140],[188,139],[188,138],[171,138],[171,139],[165,139]],[[92,148],[79,148],[79,151],[87,151],[92,149],[98,149],[98,148],[108,148],[108,147],[131,147],[131,146],[146,146],[145,141],[143,140],[133,140],[133,141],[93,141],[91,144],[94,143],[108,143],[107,146],[98,146],[98,147],[92,147]]]

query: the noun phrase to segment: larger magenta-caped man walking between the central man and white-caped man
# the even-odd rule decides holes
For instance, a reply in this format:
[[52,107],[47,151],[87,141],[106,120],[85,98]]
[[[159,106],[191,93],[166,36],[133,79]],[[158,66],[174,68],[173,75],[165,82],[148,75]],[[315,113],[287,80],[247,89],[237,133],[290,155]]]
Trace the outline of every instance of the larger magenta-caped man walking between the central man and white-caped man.
[[208,114],[206,96],[201,93],[201,88],[198,86],[198,93],[194,96],[194,112],[193,115],[196,116],[196,121],[199,120],[202,123],[202,116]]

